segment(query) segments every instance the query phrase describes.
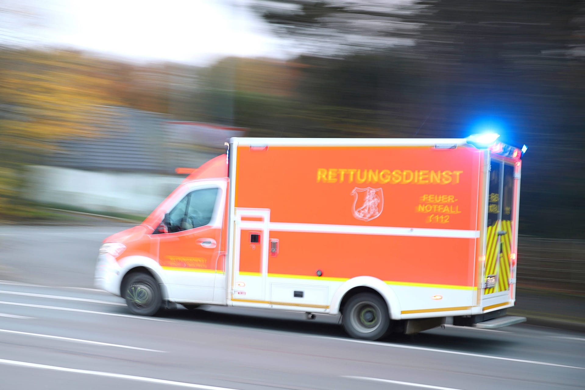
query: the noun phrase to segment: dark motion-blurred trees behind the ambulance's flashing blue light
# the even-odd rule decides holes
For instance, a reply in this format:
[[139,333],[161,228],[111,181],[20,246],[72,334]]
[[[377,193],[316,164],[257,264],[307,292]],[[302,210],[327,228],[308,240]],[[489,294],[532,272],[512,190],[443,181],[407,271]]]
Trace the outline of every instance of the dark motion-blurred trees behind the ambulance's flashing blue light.
[[[452,137],[495,118],[504,141],[530,146],[521,233],[582,238],[584,1],[295,0],[252,7],[307,53],[299,60],[308,66],[298,100],[312,114],[295,125],[328,136]],[[314,126],[326,122],[325,107],[345,127]],[[360,131],[364,122],[371,132]]]

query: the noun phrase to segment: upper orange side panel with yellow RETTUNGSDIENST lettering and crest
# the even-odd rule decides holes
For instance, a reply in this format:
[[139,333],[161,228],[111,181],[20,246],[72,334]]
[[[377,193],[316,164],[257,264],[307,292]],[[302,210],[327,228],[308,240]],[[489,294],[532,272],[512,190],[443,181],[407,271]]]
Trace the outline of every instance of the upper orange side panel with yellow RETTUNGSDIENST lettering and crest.
[[[271,222],[476,230],[480,160],[470,147],[240,146],[235,206]],[[357,218],[367,188],[380,213]]]

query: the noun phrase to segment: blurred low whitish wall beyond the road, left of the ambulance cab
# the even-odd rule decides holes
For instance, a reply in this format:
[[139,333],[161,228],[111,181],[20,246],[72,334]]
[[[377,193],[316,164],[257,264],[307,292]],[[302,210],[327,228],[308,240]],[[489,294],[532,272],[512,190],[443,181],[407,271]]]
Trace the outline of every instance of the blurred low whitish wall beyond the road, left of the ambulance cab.
[[183,180],[181,175],[29,167],[26,197],[67,209],[147,215]]

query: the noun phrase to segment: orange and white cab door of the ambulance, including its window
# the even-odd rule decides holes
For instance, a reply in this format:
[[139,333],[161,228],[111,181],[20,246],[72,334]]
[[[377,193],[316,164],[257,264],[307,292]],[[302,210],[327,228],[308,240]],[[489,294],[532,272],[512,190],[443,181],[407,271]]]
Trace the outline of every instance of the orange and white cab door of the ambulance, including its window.
[[214,301],[224,192],[222,185],[199,184],[167,213],[168,233],[157,236],[159,263],[172,301]]

